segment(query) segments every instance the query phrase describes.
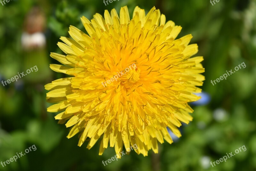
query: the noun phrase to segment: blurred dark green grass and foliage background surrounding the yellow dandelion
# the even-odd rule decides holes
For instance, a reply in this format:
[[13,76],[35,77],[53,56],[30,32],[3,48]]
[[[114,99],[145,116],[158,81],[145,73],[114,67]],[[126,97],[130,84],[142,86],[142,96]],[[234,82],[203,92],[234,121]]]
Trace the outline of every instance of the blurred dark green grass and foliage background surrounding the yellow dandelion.
[[[21,34],[26,14],[34,5],[45,12],[47,26],[45,35],[47,47],[41,52],[26,54],[21,47]],[[98,155],[99,143],[88,150],[87,142],[78,147],[78,135],[66,138],[69,128],[57,124],[54,116],[47,113],[51,104],[45,102],[44,84],[64,74],[50,70],[49,64],[58,64],[50,58],[50,52],[62,53],[56,45],[60,36],[68,36],[68,27],[73,25],[85,32],[81,16],[92,19],[98,12],[128,6],[130,16],[135,6],[146,13],[156,6],[182,27],[178,38],[192,34],[191,43],[197,43],[197,56],[204,56],[202,62],[206,80],[201,87],[211,96],[208,105],[192,106],[193,121],[181,128],[182,137],[173,144],[159,144],[159,153],[149,151],[147,157],[131,152],[118,161],[104,167],[102,160],[115,155],[114,148],[108,148]],[[256,1],[229,0],[216,3],[209,0],[119,0],[105,6],[103,0],[12,0],[0,4],[0,75],[10,79],[18,72],[28,69],[24,60],[30,56],[30,67],[38,66],[38,72],[50,73],[48,78],[36,73],[20,78],[24,83],[15,86],[0,84],[0,162],[10,159],[16,152],[36,145],[37,150],[29,152],[17,162],[1,170],[170,170],[170,171],[253,171],[256,170]],[[41,59],[47,59],[42,62]],[[241,68],[216,85],[211,80],[219,78],[226,70],[244,62]],[[27,64],[27,65],[28,65]],[[39,67],[40,66],[40,67]],[[27,67],[27,68],[26,68]],[[0,80],[2,81],[2,80]],[[33,83],[32,83],[33,82]],[[210,161],[220,159],[245,145],[240,152],[212,167]]]

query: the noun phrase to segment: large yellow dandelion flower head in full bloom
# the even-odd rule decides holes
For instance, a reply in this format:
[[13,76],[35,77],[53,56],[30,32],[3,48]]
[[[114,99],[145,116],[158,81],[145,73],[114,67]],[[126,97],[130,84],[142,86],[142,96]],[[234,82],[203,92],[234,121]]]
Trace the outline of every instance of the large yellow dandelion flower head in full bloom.
[[90,149],[100,139],[99,155],[108,145],[118,154],[134,144],[138,154],[157,153],[158,142],[172,143],[166,127],[180,137],[177,127],[192,120],[188,102],[200,98],[193,93],[201,92],[203,57],[190,58],[198,51],[188,45],[192,35],[175,40],[181,27],[155,7],[146,16],[136,7],[132,19],[126,6],[104,17],[82,17],[88,35],[70,26],[73,39],[60,38],[66,55],[51,57],[64,65],[50,67],[73,77],[45,85],[47,100],[57,103],[47,110],[61,112],[59,123],[68,120],[68,138],[81,132],[79,146],[89,138]]

